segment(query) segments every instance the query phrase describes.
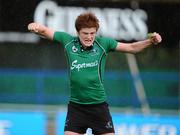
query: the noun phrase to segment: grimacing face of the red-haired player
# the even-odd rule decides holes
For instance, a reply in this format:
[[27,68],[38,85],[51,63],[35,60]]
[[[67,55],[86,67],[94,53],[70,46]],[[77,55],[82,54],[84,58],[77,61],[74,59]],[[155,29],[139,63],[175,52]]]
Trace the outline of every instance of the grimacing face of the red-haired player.
[[83,47],[89,47],[93,44],[96,36],[96,28],[82,28],[78,32],[78,36]]

